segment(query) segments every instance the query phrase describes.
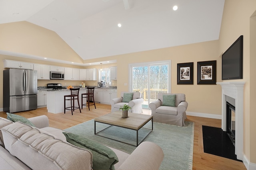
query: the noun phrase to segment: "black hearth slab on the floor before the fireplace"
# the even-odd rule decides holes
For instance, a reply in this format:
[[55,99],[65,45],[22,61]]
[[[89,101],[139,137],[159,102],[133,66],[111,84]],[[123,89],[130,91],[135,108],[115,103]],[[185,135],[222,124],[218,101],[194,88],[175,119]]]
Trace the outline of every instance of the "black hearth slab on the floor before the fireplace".
[[235,147],[225,131],[221,128],[202,126],[204,152],[238,160],[235,154]]

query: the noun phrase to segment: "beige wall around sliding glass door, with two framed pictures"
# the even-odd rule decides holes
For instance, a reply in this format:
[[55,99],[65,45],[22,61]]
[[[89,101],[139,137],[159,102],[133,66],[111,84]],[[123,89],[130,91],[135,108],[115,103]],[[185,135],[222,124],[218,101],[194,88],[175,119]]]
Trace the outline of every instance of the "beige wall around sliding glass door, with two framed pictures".
[[[171,92],[185,93],[188,101],[187,111],[197,113],[221,114],[221,87],[218,85],[197,85],[197,62],[217,61],[217,82],[221,81],[221,58],[218,53],[218,40],[170,47],[139,53],[115,56],[117,59],[118,96],[128,91],[128,70],[131,63],[171,60]],[[109,58],[106,57],[106,60]],[[194,62],[194,84],[177,85],[177,64]],[[207,101],[207,102],[206,102]]]

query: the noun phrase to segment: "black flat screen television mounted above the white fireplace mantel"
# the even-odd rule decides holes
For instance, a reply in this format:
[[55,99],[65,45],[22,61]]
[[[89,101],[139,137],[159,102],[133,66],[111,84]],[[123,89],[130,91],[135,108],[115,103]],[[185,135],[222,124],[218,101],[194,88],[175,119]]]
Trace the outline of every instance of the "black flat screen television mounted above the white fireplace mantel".
[[222,54],[222,80],[243,78],[243,35]]

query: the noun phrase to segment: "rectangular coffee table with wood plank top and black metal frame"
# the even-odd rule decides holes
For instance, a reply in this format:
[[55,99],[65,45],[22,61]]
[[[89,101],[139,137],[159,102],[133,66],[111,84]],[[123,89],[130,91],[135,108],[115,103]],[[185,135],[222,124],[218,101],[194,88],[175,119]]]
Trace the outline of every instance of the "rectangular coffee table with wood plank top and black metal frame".
[[[142,143],[142,141],[140,141],[140,143],[138,142],[138,131],[141,128],[143,128],[143,126],[146,123],[148,123],[150,120],[152,121],[152,128],[150,129],[149,133],[142,139],[142,141],[144,141],[144,139],[153,131],[153,116],[152,115],[144,115],[144,114],[139,114],[139,113],[128,113],[127,118],[122,118],[122,111],[115,111],[113,113],[109,113],[107,115],[103,115],[101,117],[94,119],[94,134],[98,135],[97,133],[104,131],[105,129],[108,128],[107,127],[105,129],[102,129],[101,131],[96,133],[96,122],[113,125],[113,126],[117,126],[117,127],[123,127],[126,129],[132,129],[137,132],[137,138],[136,138],[137,141],[136,141],[136,145],[134,145],[134,146],[138,146],[140,143]],[[147,129],[147,128],[145,128],[145,129]],[[101,136],[101,135],[99,135],[99,136]],[[113,140],[115,140],[115,139],[113,139]],[[115,140],[115,141],[117,141],[117,140]],[[122,142],[122,141],[119,141],[119,142]],[[123,142],[123,143],[125,143],[125,142]]]

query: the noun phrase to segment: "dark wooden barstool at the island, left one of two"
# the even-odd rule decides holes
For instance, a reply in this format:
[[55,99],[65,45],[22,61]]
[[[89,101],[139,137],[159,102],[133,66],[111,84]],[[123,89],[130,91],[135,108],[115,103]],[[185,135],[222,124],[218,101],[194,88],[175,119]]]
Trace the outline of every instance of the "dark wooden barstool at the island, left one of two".
[[[75,111],[75,109],[79,109],[81,113],[79,97],[78,97],[79,89],[80,88],[70,88],[70,95],[64,96],[64,114],[66,113],[66,110],[71,110],[71,113],[73,115],[73,111]],[[66,107],[66,100],[70,100],[70,107]],[[77,100],[78,107],[75,107],[75,100]]]

